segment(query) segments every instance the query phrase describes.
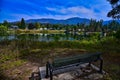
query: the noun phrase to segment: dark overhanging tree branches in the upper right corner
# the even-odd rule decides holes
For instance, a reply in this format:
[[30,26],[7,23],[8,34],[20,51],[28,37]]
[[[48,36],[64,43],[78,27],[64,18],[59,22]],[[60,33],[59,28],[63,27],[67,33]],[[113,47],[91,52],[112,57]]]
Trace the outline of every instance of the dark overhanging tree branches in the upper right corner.
[[108,17],[113,19],[120,19],[120,0],[107,0],[112,5],[112,10],[107,14]]

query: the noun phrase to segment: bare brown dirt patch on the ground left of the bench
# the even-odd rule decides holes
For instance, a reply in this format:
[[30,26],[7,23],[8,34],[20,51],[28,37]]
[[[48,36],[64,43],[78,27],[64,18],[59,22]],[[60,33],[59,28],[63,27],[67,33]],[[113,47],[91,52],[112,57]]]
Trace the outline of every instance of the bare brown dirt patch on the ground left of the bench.
[[38,71],[39,64],[26,62],[20,67],[10,69],[6,71],[6,75],[12,80],[29,80],[32,72]]

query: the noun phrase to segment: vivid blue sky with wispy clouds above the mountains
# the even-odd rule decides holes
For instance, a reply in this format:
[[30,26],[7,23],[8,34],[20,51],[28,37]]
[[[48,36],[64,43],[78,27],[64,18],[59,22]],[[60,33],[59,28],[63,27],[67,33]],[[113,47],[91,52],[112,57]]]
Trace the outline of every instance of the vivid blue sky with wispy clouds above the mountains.
[[0,22],[71,17],[110,20],[109,10],[107,0],[0,0]]

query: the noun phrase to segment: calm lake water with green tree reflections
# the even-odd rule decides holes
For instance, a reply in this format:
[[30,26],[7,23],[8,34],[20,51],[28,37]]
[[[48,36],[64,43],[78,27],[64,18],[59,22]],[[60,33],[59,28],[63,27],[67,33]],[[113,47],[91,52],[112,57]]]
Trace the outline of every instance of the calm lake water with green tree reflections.
[[33,40],[33,41],[62,41],[62,40],[81,40],[86,38],[82,34],[14,34],[0,36],[2,40]]

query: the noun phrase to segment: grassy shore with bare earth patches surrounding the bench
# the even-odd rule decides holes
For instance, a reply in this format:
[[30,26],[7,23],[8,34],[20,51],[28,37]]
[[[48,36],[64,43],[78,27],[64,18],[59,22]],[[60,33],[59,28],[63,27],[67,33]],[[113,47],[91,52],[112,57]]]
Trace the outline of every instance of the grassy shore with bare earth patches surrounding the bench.
[[105,80],[120,79],[120,41],[113,37],[81,41],[2,41],[0,42],[0,79],[28,80],[35,67],[55,57],[86,52],[102,52]]

